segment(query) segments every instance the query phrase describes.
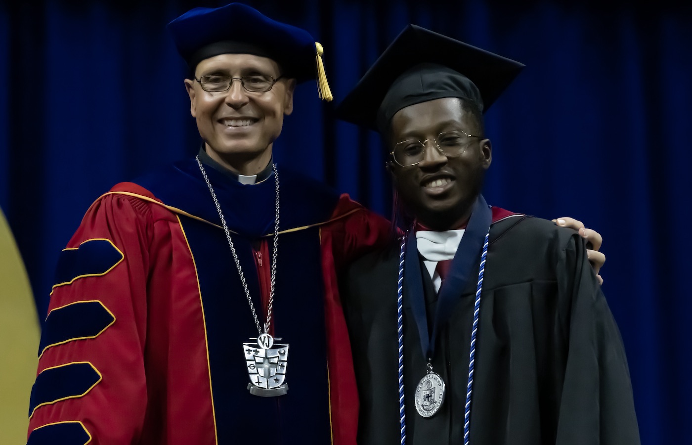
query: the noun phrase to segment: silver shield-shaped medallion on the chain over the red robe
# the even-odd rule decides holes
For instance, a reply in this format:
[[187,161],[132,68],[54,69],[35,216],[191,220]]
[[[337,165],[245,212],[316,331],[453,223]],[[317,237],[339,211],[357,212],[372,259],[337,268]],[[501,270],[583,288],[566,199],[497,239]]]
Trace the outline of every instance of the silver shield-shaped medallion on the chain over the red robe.
[[[286,366],[289,360],[289,345],[274,343],[269,334],[262,334],[243,343],[243,352],[248,367],[250,394],[260,397],[276,397],[286,394],[289,385],[286,379]],[[281,338],[277,338],[281,340]]]

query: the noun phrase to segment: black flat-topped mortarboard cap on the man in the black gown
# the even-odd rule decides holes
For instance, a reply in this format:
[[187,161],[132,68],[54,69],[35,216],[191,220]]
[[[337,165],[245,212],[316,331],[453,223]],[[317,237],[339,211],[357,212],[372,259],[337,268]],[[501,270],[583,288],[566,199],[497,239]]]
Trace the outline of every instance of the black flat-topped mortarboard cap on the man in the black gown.
[[408,25],[336,108],[347,122],[383,131],[400,109],[463,98],[487,110],[523,64]]

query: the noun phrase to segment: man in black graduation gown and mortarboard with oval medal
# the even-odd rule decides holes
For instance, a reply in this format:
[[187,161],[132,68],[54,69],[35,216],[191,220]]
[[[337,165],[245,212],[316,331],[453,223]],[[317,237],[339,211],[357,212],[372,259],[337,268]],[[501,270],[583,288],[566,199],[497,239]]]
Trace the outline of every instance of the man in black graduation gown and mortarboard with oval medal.
[[361,444],[639,443],[583,240],[480,194],[482,111],[521,68],[408,26],[338,107],[382,134],[404,223],[343,284]]

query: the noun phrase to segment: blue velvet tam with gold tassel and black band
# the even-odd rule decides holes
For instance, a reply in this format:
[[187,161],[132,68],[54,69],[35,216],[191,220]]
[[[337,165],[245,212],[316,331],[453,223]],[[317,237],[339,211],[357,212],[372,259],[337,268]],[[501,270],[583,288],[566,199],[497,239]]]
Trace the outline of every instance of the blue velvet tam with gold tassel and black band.
[[168,24],[178,52],[191,70],[226,53],[269,57],[297,82],[317,79],[320,97],[331,100],[322,46],[306,30],[275,21],[242,3],[194,8]]

